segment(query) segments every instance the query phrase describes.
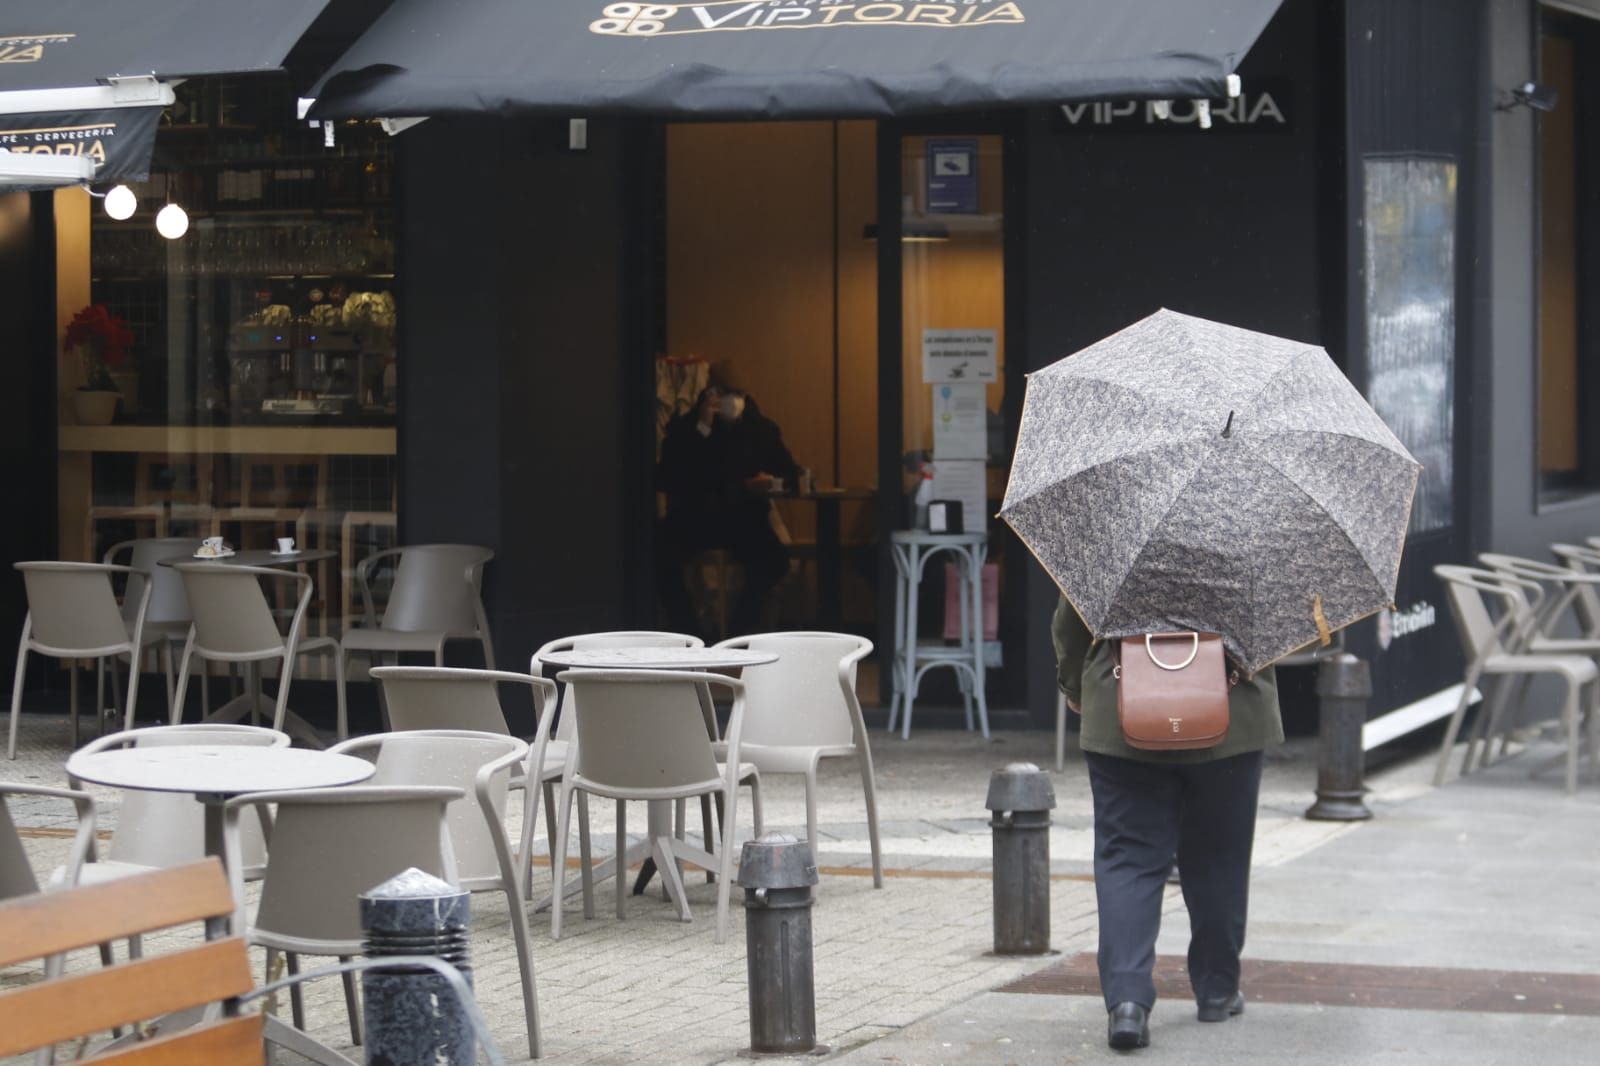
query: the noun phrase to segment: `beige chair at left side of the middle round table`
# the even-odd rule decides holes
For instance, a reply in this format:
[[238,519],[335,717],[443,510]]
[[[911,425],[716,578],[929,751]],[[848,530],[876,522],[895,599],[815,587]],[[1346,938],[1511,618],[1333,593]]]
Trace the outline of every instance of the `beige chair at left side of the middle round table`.
[[[533,735],[528,762],[512,775],[512,787],[526,787],[531,776],[534,787],[525,797],[522,840],[517,855],[522,860],[522,887],[526,895],[533,863],[533,829],[539,820],[538,783],[547,779],[554,765],[554,779],[560,779],[566,759],[566,741],[550,738],[550,720],[555,717],[555,682],[547,677],[510,674],[507,671],[470,671],[443,666],[378,666],[373,669],[384,703],[389,706],[389,728],[395,733],[410,730],[470,730],[510,736],[506,711],[499,699],[499,685],[528,685],[533,690]],[[533,773],[544,767],[546,773]],[[555,840],[554,786],[544,786],[544,824],[549,840]],[[584,839],[587,840],[587,823]],[[587,847],[584,855],[587,855]]]

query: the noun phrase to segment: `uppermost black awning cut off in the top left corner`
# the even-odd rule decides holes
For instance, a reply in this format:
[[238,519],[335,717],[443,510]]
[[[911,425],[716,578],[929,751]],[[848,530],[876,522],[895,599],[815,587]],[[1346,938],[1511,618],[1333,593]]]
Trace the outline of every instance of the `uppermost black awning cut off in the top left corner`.
[[275,70],[326,2],[5,0],[0,93]]

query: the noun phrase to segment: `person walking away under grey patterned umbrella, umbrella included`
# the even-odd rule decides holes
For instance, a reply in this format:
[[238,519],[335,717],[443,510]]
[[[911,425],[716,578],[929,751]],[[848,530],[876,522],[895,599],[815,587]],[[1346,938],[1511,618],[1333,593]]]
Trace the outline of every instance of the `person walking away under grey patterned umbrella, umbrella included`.
[[[1394,602],[1419,471],[1320,347],[1205,319],[1160,311],[1029,376],[1000,514],[1062,592],[1051,635],[1094,797],[1110,1047],[1150,1042],[1174,856],[1198,1018],[1245,1010],[1262,751],[1283,739],[1272,663]],[[1123,655],[1181,672],[1195,655],[1152,643],[1174,632],[1226,651],[1226,719],[1158,751],[1130,731],[1115,645],[1142,637]]]

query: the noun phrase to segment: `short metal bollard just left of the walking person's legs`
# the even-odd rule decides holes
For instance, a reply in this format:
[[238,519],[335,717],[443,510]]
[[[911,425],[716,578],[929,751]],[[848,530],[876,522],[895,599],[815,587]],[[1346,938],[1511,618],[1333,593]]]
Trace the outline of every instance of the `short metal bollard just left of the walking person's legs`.
[[1050,812],[1056,789],[1030,762],[1013,762],[989,776],[994,815],[995,954],[1050,951]]

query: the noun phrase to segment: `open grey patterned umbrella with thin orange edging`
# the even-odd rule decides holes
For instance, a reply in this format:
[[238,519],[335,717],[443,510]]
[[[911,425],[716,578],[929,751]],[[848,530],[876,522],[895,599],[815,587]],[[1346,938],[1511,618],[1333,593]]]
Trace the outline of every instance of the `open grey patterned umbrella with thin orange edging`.
[[1254,672],[1394,602],[1419,472],[1320,347],[1158,311],[1029,375],[1000,515],[1094,635]]

